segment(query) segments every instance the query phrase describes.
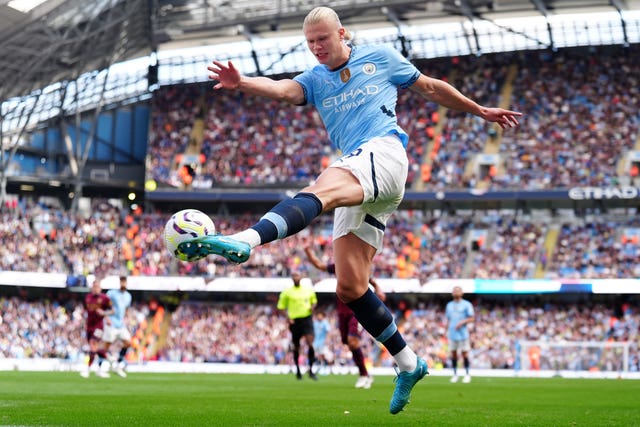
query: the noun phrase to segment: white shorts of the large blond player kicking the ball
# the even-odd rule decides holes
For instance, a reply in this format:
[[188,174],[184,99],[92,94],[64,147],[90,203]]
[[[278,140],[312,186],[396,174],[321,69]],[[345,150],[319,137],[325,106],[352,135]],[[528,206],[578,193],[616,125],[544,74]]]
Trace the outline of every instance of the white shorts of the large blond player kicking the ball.
[[361,205],[336,208],[333,239],[353,233],[380,252],[387,220],[404,197],[409,161],[402,143],[394,135],[373,138],[329,167],[349,170],[364,191]]

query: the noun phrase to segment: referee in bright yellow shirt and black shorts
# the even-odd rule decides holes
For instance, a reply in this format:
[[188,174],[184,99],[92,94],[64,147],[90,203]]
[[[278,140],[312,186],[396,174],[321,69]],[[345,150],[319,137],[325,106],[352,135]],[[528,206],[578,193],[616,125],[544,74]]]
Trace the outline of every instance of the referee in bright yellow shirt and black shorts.
[[313,372],[315,350],[313,348],[313,309],[318,303],[318,298],[313,289],[302,286],[302,276],[298,272],[291,274],[293,286],[280,292],[278,297],[278,310],[284,310],[289,319],[289,331],[291,331],[291,347],[293,351],[293,363],[296,365],[296,377],[301,380],[300,372],[300,340],[304,337],[307,343],[307,359],[309,361],[309,378],[317,380]]

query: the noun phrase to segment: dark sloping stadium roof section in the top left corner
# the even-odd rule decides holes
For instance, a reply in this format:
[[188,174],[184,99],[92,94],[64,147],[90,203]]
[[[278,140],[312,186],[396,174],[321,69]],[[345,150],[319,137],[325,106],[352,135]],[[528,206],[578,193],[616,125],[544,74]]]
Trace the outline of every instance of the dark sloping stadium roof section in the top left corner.
[[47,0],[22,12],[0,0],[0,100],[148,54],[149,4]]

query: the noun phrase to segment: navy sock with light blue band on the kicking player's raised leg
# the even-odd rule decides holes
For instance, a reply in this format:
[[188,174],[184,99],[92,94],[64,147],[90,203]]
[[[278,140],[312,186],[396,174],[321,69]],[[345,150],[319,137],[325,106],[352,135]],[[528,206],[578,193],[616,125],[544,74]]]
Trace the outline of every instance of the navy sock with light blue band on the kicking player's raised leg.
[[296,234],[321,213],[322,202],[315,194],[298,193],[275,205],[251,228],[260,235],[260,244],[265,244]]

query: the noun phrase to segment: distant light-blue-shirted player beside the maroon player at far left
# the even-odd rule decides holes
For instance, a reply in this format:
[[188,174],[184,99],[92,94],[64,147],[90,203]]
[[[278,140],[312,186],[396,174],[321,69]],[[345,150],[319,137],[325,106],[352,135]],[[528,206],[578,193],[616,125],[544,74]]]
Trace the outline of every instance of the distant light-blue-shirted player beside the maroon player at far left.
[[127,290],[127,278],[120,276],[120,289],[110,289],[107,291],[107,296],[111,299],[113,314],[105,319],[103,340],[107,350],[114,342],[118,340],[121,342],[120,353],[111,367],[116,374],[124,378],[127,376],[124,371],[125,356],[131,346],[131,332],[127,329],[126,323],[127,309],[131,307],[131,293]]

